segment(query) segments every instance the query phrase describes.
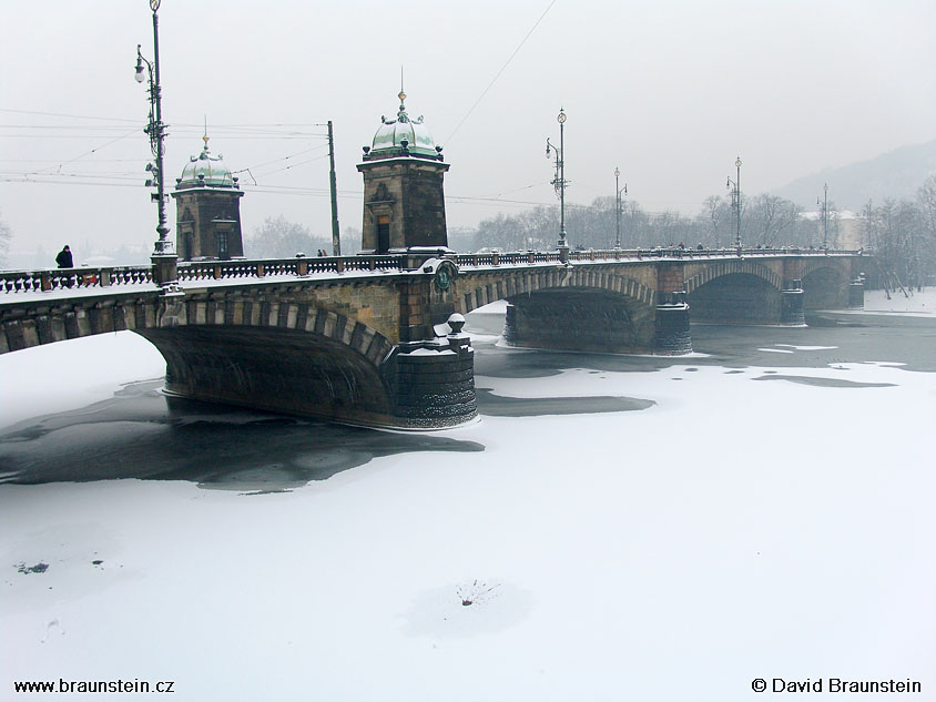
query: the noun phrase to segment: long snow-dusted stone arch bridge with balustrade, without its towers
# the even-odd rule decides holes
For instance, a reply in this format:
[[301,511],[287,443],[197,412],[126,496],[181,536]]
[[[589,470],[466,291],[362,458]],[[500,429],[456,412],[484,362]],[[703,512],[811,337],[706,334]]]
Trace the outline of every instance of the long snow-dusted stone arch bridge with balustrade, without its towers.
[[803,324],[861,306],[861,256],[796,250],[464,255],[449,250],[0,274],[0,353],[130,329],[166,359],[166,391],[405,429],[472,419],[461,315],[506,299],[518,346],[691,350],[692,317]]

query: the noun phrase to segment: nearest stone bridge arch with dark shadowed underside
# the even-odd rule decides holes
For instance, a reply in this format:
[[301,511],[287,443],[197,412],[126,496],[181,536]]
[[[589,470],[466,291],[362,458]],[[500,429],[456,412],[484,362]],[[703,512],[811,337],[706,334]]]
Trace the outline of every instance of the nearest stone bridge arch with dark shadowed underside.
[[[241,303],[238,303],[240,305]],[[353,424],[393,425],[393,345],[313,305],[191,301],[134,329],[166,359],[166,390]]]

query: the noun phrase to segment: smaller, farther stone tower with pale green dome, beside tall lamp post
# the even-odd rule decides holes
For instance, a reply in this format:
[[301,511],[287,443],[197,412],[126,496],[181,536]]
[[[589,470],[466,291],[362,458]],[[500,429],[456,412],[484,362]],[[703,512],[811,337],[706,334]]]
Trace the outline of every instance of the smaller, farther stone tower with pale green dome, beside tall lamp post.
[[237,179],[221,154],[211,155],[208,138],[175,180],[175,232],[180,261],[226,260],[244,256],[241,197]]

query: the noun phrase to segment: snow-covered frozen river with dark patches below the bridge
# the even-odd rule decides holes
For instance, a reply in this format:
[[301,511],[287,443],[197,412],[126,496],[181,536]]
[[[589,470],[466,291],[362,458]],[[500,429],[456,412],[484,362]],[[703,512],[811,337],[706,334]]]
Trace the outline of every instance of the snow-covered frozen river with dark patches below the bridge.
[[678,358],[475,313],[431,434],[169,401],[130,333],[2,356],[0,699],[936,699],[936,295],[867,307]]

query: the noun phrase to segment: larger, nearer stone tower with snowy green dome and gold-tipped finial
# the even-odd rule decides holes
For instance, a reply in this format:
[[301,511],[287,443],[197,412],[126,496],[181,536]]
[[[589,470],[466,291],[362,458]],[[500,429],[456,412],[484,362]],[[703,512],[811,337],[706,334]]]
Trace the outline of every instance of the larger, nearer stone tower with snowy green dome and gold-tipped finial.
[[449,166],[423,118],[409,119],[406,93],[398,96],[396,119],[380,118],[357,164],[364,174],[363,254],[448,247],[442,177]]

